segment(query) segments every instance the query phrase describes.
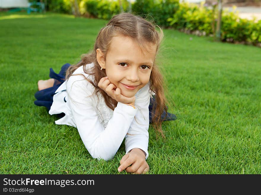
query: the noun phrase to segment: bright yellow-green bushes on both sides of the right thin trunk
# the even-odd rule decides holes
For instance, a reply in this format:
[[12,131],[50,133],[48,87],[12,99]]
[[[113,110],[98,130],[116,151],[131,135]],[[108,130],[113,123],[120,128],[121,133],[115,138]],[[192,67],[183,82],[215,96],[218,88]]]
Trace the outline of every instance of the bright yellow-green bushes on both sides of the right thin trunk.
[[[235,8],[234,8],[235,9]],[[179,9],[168,18],[170,26],[175,29],[201,31],[203,35],[215,35],[217,11],[188,3],[179,3]],[[248,42],[259,45],[261,42],[261,20],[239,18],[235,12],[223,10],[221,22],[221,40],[227,42]]]

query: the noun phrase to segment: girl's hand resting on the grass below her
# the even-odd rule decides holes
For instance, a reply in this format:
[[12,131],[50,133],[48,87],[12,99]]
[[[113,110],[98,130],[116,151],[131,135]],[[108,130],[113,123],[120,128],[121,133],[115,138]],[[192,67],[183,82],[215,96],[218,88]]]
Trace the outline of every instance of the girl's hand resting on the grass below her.
[[124,169],[134,174],[148,172],[149,165],[145,160],[145,152],[139,148],[133,148],[128,154],[125,154],[120,160],[118,171],[121,172]]

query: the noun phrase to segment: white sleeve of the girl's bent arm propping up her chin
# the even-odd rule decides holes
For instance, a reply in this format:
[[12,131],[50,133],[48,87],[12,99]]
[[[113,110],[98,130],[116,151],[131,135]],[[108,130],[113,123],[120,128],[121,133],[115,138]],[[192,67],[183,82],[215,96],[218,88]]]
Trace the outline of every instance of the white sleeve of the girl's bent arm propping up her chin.
[[[80,81],[79,81],[80,80]],[[106,128],[98,120],[93,100],[94,88],[82,76],[69,77],[66,83],[68,103],[79,135],[93,158],[109,160],[119,149],[137,109],[118,102]],[[96,96],[94,93],[93,96]]]

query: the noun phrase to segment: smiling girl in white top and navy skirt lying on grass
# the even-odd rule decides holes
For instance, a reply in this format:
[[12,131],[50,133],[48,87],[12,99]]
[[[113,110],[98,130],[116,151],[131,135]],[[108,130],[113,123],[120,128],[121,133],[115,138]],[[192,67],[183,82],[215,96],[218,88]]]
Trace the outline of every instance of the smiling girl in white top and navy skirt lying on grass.
[[34,103],[60,115],[56,124],[76,127],[93,158],[113,158],[125,138],[118,171],[147,172],[149,124],[164,137],[161,123],[176,119],[167,112],[155,62],[162,38],[161,29],[139,16],[115,15],[101,28],[92,53],[38,81]]

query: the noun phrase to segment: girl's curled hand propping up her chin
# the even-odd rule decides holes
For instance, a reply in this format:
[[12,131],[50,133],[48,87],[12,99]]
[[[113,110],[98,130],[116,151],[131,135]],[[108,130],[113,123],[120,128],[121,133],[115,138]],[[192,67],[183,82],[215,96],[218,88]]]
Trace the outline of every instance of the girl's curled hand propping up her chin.
[[113,83],[111,83],[108,77],[102,77],[98,83],[98,87],[104,90],[108,94],[108,96],[110,96],[112,99],[115,99],[117,102],[134,105],[135,96],[123,96],[121,94],[120,88],[117,88]]

